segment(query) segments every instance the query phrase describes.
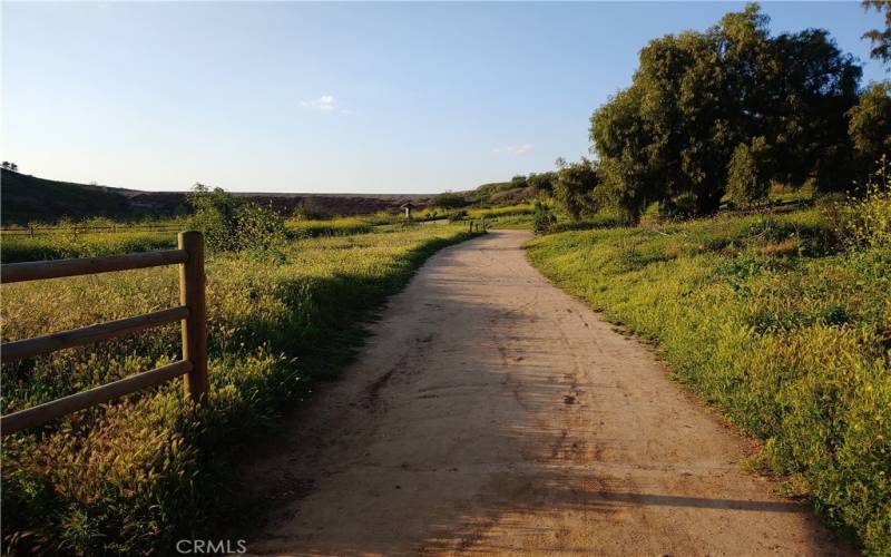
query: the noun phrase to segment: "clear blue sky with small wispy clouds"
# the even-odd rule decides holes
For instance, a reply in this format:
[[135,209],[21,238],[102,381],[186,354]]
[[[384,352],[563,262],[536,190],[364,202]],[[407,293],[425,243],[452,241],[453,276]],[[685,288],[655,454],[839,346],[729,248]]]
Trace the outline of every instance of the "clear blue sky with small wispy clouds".
[[[2,157],[138,189],[469,189],[586,155],[649,39],[742,6],[3,2]],[[888,76],[859,2],[763,8]]]

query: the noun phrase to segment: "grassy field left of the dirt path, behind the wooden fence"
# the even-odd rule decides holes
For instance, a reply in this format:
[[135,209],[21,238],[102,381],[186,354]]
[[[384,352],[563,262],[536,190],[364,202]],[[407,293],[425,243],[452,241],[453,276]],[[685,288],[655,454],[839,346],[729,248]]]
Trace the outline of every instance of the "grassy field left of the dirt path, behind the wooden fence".
[[[174,381],[4,438],[4,548],[165,553],[234,515],[227,480],[239,449],[314,381],[333,378],[361,344],[363,320],[466,229],[316,237],[274,255],[210,257],[209,405],[187,404]],[[175,305],[177,278],[160,267],[10,284],[2,294],[9,341]],[[178,330],[167,326],[3,365],[2,412],[170,362],[178,346]]]

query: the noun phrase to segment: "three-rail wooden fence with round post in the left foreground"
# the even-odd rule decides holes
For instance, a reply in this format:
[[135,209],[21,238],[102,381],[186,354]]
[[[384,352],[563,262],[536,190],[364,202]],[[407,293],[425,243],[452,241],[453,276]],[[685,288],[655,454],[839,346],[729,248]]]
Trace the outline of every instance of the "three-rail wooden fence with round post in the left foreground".
[[179,375],[185,375],[184,387],[187,395],[197,402],[205,401],[207,397],[207,324],[204,297],[204,237],[198,232],[180,232],[177,247],[177,250],[108,257],[0,265],[0,282],[3,284],[179,265],[179,306],[37,339],[7,342],[0,345],[0,361],[3,363],[135,333],[176,321],[182,322],[183,330],[182,360],[3,416],[0,418],[2,434],[41,426],[62,416],[148,389]]

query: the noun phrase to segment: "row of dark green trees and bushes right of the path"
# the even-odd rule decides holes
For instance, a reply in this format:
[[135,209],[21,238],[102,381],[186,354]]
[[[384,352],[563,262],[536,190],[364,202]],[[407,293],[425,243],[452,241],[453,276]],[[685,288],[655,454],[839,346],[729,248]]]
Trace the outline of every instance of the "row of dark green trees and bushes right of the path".
[[[864,35],[891,61],[887,30]],[[865,184],[891,154],[891,81],[861,88],[862,68],[823,29],[771,36],[756,3],[706,31],[652,40],[631,85],[590,118],[594,159],[530,175],[572,218],[613,208],[628,222],[715,213],[722,199],[763,202],[773,184],[816,194]]]

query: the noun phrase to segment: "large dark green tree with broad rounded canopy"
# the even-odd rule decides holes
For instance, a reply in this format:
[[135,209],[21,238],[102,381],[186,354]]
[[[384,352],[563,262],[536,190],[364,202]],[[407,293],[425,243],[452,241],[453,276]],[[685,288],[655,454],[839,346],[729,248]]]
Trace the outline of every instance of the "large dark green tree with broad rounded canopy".
[[[712,213],[734,153],[737,176],[757,165],[762,180],[846,186],[846,113],[861,68],[826,31],[771,37],[767,23],[748,4],[705,32],[668,35],[640,51],[631,86],[591,117],[598,195],[631,215],[647,203],[672,211],[691,199],[694,213]],[[748,157],[754,138],[763,138],[762,155]]]

